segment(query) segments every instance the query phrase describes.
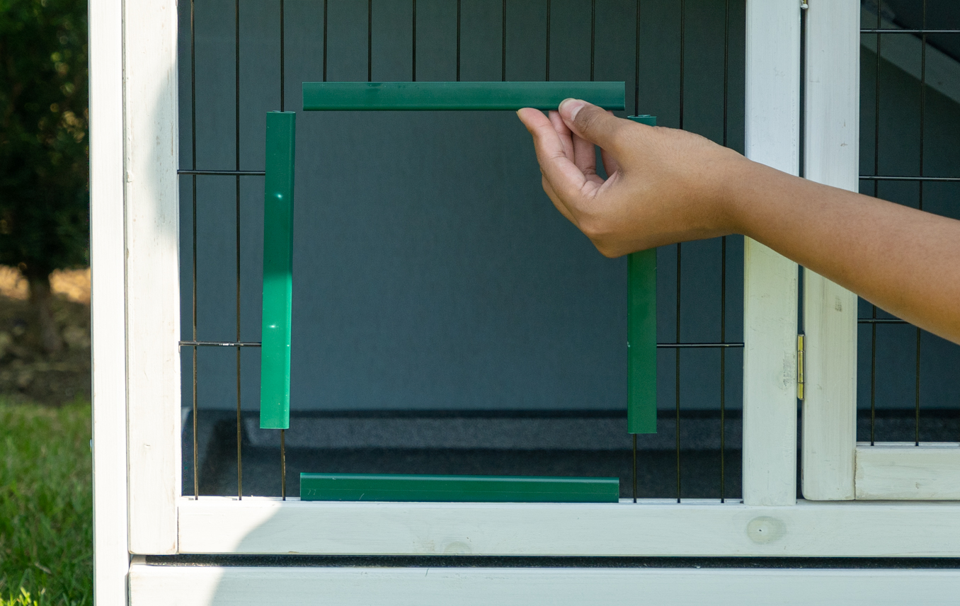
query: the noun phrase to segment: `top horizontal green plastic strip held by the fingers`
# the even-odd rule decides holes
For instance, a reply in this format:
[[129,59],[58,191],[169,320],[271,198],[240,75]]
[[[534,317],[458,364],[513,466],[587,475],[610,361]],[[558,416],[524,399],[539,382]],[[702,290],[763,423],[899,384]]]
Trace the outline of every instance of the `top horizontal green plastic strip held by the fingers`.
[[624,109],[622,82],[305,82],[303,109],[557,109],[566,98]]

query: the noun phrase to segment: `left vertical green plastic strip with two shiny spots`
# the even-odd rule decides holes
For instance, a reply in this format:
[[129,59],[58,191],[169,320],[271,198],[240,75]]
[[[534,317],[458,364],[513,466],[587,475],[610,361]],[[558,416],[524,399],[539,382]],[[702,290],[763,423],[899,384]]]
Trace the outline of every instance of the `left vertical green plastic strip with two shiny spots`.
[[263,333],[260,427],[290,427],[290,319],[293,296],[294,143],[297,114],[267,113],[263,201]]

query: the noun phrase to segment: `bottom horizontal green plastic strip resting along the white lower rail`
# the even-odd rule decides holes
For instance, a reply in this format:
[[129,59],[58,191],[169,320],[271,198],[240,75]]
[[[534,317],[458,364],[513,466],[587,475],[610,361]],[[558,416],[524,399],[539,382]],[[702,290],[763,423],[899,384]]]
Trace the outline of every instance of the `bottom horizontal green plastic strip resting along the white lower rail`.
[[615,503],[616,477],[300,473],[300,500]]

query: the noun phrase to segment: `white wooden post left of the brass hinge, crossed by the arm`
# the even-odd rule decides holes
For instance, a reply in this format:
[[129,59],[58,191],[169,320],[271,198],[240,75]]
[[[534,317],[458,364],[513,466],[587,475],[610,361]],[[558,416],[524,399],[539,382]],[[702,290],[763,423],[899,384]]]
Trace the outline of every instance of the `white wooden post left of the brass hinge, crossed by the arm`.
[[[747,1],[746,155],[796,175],[800,2]],[[743,500],[797,500],[797,264],[744,243]]]

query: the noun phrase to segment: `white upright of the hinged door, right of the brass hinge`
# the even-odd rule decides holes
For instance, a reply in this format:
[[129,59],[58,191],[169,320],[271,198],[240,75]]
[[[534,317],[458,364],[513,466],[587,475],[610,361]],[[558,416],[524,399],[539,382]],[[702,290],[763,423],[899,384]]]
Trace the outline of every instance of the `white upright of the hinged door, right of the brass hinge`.
[[[804,176],[857,190],[860,2],[806,11]],[[853,498],[856,303],[851,291],[804,269],[804,498]]]

